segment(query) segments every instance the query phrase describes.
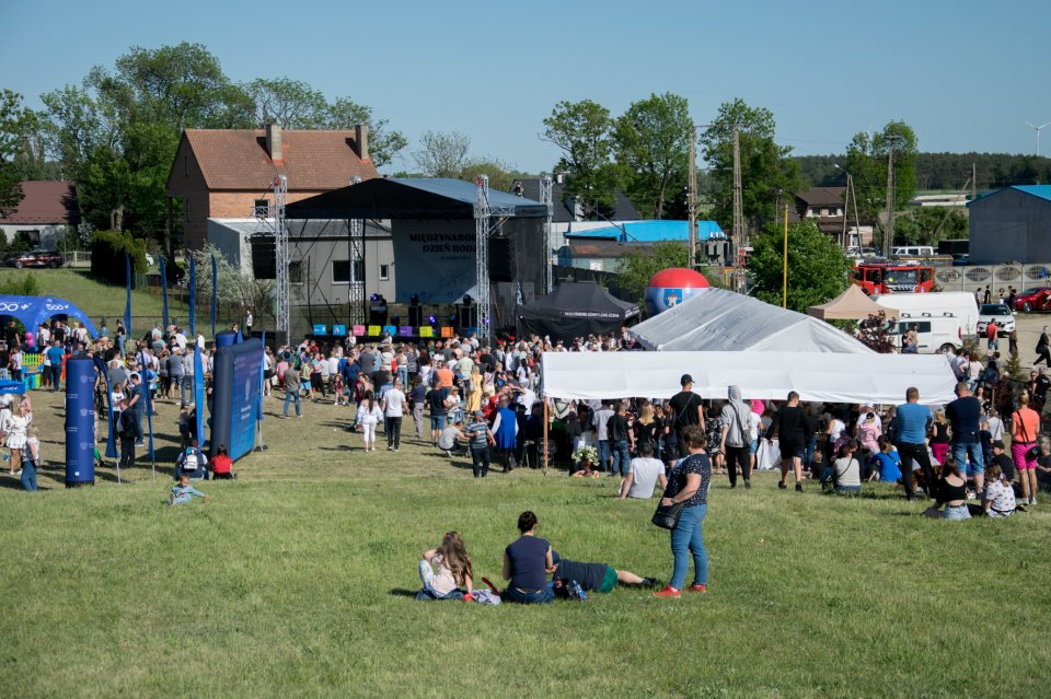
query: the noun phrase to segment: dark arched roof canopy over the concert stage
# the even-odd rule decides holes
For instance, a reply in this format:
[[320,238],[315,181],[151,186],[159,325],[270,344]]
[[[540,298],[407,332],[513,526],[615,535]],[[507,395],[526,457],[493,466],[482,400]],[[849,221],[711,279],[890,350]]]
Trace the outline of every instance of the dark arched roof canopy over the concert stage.
[[[390,177],[365,182],[290,203],[289,219],[473,219],[477,187],[462,179]],[[547,207],[506,191],[489,190],[499,215],[540,219]]]

